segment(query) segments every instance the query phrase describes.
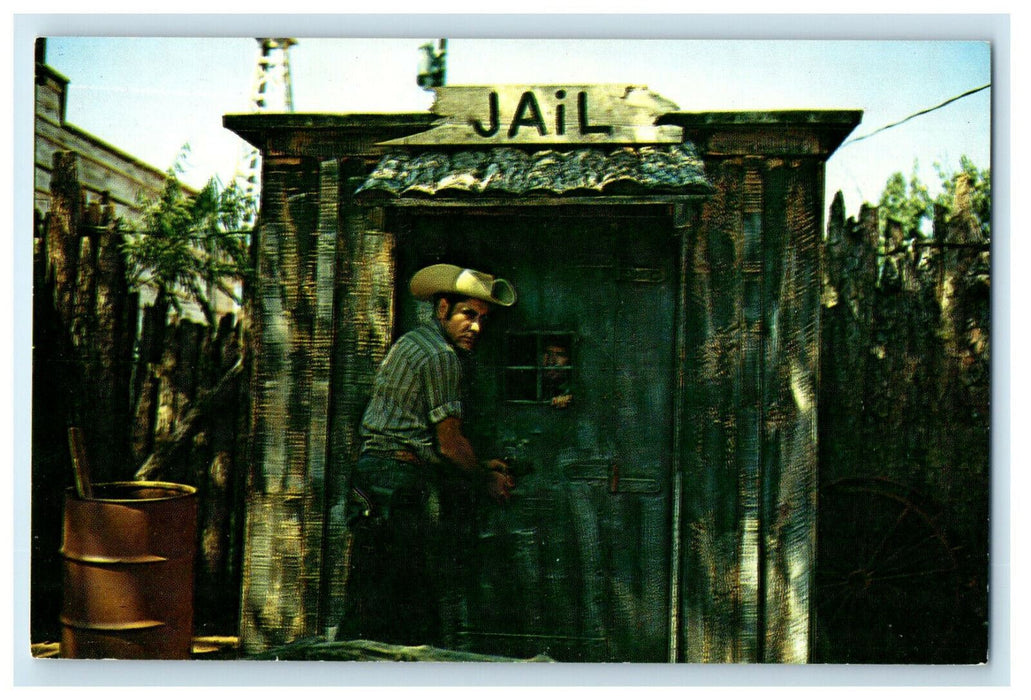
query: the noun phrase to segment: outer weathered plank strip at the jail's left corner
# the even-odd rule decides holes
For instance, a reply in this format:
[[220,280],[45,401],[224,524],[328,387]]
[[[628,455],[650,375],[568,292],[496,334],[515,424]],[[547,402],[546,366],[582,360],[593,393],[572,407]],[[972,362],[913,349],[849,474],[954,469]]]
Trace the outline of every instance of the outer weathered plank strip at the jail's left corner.
[[240,644],[264,651],[318,625],[335,231],[320,229],[318,161],[266,157],[255,235]]

